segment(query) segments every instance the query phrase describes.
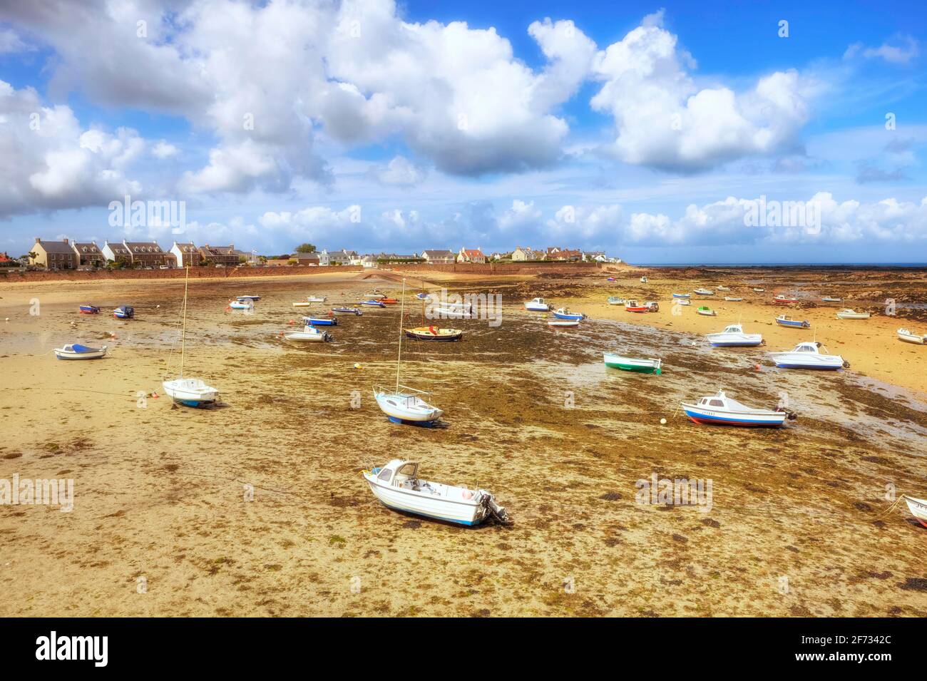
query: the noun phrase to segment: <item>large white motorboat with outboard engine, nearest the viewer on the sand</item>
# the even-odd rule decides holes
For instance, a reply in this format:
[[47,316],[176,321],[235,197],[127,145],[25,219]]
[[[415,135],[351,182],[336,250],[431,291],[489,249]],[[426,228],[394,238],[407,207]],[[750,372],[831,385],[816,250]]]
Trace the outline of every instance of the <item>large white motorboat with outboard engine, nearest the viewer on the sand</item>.
[[511,523],[508,513],[487,490],[419,480],[414,461],[394,459],[362,475],[377,500],[393,511],[462,525],[478,525],[489,518]]

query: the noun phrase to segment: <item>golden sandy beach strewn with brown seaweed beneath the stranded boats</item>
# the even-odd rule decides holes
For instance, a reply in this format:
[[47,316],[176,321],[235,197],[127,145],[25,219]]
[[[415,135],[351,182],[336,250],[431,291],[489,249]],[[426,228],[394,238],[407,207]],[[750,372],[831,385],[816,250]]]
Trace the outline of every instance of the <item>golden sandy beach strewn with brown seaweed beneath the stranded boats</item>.
[[[340,319],[332,343],[280,335],[373,287],[399,296],[399,279],[191,282],[185,372],[220,389],[209,410],[152,397],[177,368],[182,281],[0,284],[0,479],[74,481],[70,512],[0,505],[0,615],[927,615],[927,528],[903,504],[885,512],[901,494],[927,497],[927,347],[895,336],[927,333],[924,271],[410,274],[409,300],[446,286],[503,301],[499,326],[442,322],[464,330],[461,343],[403,344],[403,383],[445,410],[434,429],[387,422],[371,397],[395,381],[399,309]],[[731,290],[674,314],[673,292],[717,285]],[[778,293],[802,302],[774,305]],[[253,311],[226,309],[243,294],[262,296]],[[291,306],[310,294],[328,300]],[[590,320],[549,329],[523,309],[534,296]],[[631,314],[607,296],[661,309]],[[80,315],[82,303],[103,313]],[[108,315],[123,304],[135,320]],[[717,317],[696,315],[700,304]],[[835,319],[843,308],[872,317]],[[777,327],[782,312],[811,328]],[[407,313],[420,322],[414,304]],[[766,347],[704,342],[735,322]],[[812,339],[850,369],[778,370],[765,357]],[[108,357],[56,360],[71,342],[105,344]],[[606,369],[610,350],[665,371]],[[741,430],[680,415],[680,400],[719,387],[764,408],[785,392],[798,418]],[[490,489],[514,525],[388,510],[361,471],[392,458]],[[710,508],[638,503],[654,474],[710,481]]]

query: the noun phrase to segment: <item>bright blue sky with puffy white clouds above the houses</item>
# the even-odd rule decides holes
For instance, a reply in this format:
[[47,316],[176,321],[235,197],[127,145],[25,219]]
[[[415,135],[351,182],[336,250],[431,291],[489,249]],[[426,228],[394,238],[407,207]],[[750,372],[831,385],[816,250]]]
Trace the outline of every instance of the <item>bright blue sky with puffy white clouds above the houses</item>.
[[[925,14],[904,2],[6,6],[0,250],[69,236],[924,261]],[[125,195],[183,201],[185,222],[111,224]],[[803,202],[809,223],[746,224],[760,197]]]

